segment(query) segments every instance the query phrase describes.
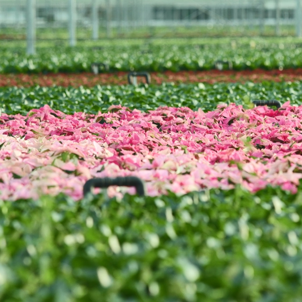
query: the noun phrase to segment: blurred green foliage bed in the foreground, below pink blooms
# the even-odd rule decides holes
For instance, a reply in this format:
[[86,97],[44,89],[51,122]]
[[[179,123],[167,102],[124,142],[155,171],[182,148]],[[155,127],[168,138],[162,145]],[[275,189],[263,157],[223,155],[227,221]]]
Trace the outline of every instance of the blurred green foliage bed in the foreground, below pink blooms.
[[0,202],[2,301],[299,301],[302,190]]

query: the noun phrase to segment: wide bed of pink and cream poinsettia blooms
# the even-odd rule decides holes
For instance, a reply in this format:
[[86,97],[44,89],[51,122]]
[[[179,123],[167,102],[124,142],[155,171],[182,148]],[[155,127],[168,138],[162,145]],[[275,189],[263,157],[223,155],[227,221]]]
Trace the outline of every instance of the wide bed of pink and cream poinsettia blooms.
[[302,178],[301,117],[302,106],[289,102],[278,111],[112,106],[108,113],[66,115],[45,105],[27,116],[2,114],[0,198],[63,192],[79,200],[88,179],[126,175],[142,178],[151,196],[236,184],[294,193]]

